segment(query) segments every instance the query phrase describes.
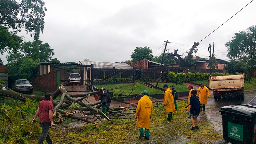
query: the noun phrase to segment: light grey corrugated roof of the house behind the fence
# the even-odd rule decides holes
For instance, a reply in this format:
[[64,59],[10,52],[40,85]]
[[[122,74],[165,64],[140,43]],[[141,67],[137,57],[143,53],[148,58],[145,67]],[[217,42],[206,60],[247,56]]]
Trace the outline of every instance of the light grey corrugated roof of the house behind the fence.
[[130,65],[127,63],[114,63],[114,62],[96,62],[96,61],[79,61],[79,63],[83,65],[91,65],[93,64],[93,68],[97,69],[132,69]]

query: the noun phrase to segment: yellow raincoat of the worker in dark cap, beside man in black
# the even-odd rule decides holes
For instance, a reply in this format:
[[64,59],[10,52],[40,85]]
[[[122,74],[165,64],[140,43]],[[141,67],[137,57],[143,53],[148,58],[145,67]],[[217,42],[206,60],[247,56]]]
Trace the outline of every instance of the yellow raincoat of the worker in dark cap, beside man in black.
[[172,90],[169,88],[164,92],[164,104],[167,113],[175,111]]

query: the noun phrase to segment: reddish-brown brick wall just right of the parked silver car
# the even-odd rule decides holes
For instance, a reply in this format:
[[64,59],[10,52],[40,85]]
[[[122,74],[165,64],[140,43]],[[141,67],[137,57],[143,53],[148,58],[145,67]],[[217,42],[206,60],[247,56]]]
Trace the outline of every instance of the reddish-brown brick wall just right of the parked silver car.
[[34,87],[44,92],[55,92],[57,85],[56,71],[36,77]]

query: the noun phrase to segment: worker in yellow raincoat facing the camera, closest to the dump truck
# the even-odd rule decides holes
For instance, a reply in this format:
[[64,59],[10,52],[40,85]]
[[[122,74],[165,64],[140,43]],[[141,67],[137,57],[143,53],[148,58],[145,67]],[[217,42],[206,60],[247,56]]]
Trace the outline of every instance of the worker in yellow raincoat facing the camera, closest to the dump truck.
[[199,97],[200,111],[205,111],[205,105],[207,104],[207,98],[210,97],[210,92],[209,89],[204,86],[204,83],[200,83],[196,96]]

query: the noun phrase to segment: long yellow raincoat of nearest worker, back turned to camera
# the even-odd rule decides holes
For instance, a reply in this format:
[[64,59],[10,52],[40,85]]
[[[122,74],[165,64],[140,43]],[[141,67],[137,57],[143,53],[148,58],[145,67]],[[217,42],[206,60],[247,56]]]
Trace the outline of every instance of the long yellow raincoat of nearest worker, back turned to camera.
[[147,95],[140,98],[136,109],[135,117],[137,118],[136,125],[140,128],[149,129],[150,116],[153,113],[152,101]]

